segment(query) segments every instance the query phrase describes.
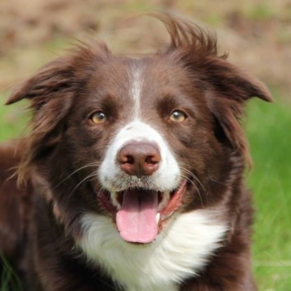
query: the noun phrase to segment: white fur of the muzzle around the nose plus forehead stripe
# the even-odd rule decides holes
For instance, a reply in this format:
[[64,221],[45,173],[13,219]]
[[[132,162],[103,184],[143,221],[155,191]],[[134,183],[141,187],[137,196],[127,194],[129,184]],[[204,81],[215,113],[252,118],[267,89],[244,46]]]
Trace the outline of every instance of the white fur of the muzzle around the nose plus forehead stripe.
[[[131,65],[129,71],[129,97],[134,106],[129,116],[129,123],[124,125],[114,135],[105,152],[105,158],[98,170],[101,186],[111,192],[113,204],[118,207],[116,192],[128,188],[145,188],[164,192],[168,197],[171,191],[178,188],[181,178],[178,162],[166,139],[154,126],[141,121],[141,94],[143,88],[143,67],[140,64]],[[150,116],[149,116],[150,117]],[[158,147],[161,154],[159,168],[150,176],[137,178],[120,169],[118,153],[121,148],[131,142],[151,143]]]

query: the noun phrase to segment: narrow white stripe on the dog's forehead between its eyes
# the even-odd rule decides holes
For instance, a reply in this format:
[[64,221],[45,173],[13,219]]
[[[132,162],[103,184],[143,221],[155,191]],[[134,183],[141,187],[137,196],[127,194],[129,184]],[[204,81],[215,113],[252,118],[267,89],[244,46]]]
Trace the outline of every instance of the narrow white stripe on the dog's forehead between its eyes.
[[134,101],[134,117],[139,118],[141,113],[141,93],[143,87],[142,80],[143,69],[137,65],[133,66],[130,71],[130,90],[129,95],[133,98]]

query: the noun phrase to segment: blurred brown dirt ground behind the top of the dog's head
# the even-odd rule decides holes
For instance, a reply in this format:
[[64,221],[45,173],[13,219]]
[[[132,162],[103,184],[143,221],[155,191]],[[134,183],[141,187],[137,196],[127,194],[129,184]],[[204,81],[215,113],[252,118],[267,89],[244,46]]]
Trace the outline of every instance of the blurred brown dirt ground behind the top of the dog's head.
[[232,62],[288,98],[291,0],[0,0],[0,90],[25,79],[75,38],[97,36],[115,52],[153,51],[165,30],[150,17],[136,17],[153,10],[215,29]]

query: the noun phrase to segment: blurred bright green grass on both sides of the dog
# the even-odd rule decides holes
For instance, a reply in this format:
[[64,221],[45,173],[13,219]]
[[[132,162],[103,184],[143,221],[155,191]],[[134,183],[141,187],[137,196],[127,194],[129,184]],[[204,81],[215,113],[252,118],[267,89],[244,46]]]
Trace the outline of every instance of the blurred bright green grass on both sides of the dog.
[[[4,102],[4,99],[2,99]],[[25,104],[0,106],[0,141],[24,128]],[[254,272],[259,291],[291,290],[291,107],[252,100],[246,129],[254,168],[248,184],[254,193]],[[6,291],[1,289],[1,291]]]

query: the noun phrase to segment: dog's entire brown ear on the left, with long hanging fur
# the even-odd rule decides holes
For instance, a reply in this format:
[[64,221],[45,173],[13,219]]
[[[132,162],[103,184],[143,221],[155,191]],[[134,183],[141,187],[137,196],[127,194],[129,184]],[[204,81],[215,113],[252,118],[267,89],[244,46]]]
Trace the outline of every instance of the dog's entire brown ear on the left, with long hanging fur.
[[74,97],[108,55],[109,50],[102,44],[78,46],[68,56],[45,65],[9,97],[7,105],[28,99],[32,109],[31,133],[18,169],[18,181],[25,180],[33,165],[42,163],[58,145]]

